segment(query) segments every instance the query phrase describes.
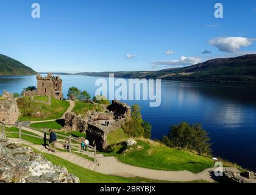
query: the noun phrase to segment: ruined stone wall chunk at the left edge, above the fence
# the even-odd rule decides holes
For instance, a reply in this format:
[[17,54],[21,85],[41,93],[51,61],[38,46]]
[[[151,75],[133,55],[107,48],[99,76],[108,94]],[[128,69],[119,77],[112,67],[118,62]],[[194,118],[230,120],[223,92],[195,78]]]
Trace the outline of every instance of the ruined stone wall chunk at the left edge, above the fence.
[[0,121],[5,124],[14,124],[20,116],[20,110],[12,93],[4,91],[0,99]]

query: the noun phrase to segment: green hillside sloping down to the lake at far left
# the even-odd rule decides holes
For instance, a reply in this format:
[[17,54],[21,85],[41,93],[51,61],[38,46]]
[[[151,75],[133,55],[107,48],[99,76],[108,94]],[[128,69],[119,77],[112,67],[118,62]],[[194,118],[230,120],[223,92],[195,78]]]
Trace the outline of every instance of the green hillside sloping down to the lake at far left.
[[36,72],[23,63],[0,54],[0,75],[34,75]]

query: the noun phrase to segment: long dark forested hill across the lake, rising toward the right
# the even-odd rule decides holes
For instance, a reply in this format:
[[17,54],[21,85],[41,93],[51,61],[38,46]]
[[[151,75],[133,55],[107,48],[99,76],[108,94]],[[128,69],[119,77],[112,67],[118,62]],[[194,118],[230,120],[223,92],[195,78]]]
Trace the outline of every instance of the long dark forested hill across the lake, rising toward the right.
[[[79,74],[88,76],[108,76],[109,73],[110,72]],[[115,77],[161,78],[166,80],[209,82],[256,82],[256,54],[213,59],[193,66],[169,68],[160,71],[115,72]]]

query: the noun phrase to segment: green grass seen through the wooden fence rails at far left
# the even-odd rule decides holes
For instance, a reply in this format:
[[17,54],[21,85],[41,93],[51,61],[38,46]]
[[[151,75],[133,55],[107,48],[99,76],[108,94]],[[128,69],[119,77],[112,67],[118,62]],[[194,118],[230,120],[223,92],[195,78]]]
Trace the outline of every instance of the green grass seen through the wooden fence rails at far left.
[[[17,127],[5,127],[5,134],[6,134],[6,137],[9,137],[9,138],[19,138],[18,133],[9,133],[9,132],[19,132],[19,129]],[[38,136],[37,134],[32,133],[32,132],[28,132],[26,130],[22,130],[22,132],[30,134],[30,135]],[[34,138],[34,137],[30,137],[28,135],[22,135],[21,138],[23,140],[29,141],[29,142],[34,143],[34,144],[38,144],[38,145],[43,144],[43,138],[41,138],[41,139],[40,138]]]

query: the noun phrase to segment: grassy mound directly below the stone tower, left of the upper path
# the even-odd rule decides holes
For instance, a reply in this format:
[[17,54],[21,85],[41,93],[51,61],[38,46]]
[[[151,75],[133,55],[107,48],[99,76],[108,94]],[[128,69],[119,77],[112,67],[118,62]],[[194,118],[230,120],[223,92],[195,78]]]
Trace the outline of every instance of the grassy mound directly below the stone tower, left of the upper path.
[[20,121],[43,121],[48,119],[58,119],[69,107],[68,101],[52,98],[51,105],[30,100],[30,97],[19,98]]

